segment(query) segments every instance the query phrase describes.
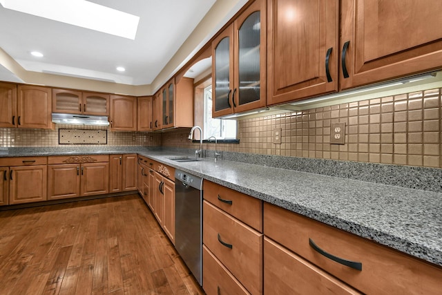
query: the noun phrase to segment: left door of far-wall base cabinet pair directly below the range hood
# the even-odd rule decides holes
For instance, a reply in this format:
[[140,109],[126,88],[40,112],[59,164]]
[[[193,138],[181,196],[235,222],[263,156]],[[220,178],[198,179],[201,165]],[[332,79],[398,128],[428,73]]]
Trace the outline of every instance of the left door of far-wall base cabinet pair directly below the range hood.
[[48,165],[48,200],[80,196],[80,164]]

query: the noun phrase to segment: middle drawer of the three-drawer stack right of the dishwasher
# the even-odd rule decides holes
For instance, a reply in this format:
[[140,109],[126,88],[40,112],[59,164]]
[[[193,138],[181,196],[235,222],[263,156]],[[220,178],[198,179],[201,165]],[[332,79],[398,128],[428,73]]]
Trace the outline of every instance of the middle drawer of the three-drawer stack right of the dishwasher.
[[205,200],[202,215],[204,245],[251,294],[262,294],[262,234]]

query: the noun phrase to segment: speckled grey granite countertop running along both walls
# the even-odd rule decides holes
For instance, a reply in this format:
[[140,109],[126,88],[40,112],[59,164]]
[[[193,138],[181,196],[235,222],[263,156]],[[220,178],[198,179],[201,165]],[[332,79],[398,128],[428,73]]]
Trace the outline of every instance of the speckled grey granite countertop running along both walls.
[[187,173],[300,213],[381,245],[442,266],[442,193],[348,178],[204,158],[170,160],[180,155],[131,146],[124,149],[68,151],[17,150],[4,156],[139,153]]

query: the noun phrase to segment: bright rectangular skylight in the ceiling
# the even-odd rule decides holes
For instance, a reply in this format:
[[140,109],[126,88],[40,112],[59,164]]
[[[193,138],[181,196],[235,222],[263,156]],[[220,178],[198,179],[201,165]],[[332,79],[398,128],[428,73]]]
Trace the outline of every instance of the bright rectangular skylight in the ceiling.
[[140,17],[85,0],[0,0],[10,10],[135,39]]

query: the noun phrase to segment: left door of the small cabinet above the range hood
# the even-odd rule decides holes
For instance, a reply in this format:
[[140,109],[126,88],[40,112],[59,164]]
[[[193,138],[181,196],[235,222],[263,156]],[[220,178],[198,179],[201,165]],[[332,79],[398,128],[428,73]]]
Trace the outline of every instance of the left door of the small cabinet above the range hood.
[[52,113],[79,114],[82,109],[81,91],[52,88]]

